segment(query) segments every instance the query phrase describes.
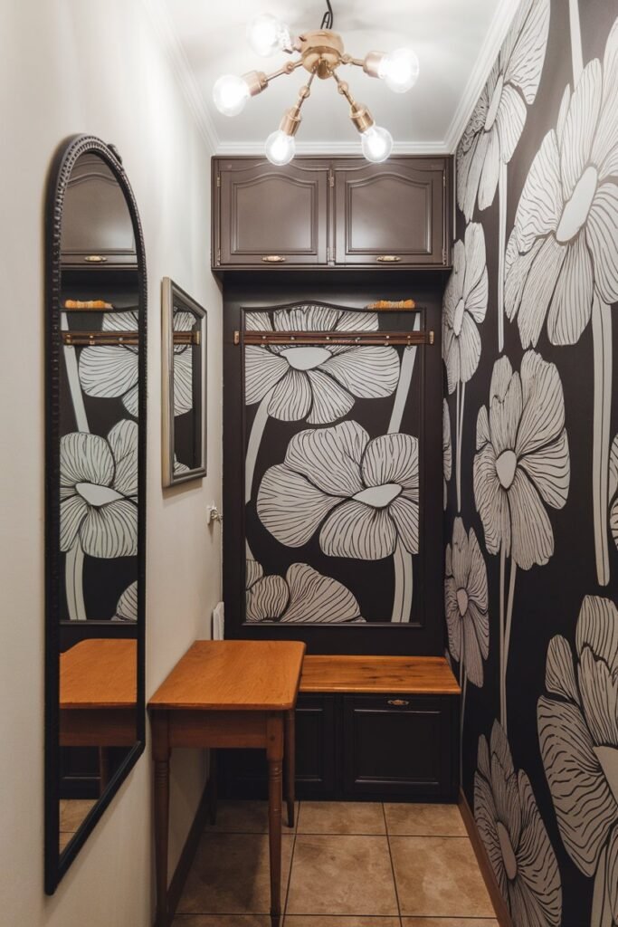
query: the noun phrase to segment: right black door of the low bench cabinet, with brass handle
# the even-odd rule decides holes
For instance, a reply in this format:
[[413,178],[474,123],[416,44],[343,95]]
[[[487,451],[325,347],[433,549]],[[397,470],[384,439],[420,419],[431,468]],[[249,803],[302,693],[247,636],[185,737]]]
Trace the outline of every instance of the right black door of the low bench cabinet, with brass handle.
[[439,696],[347,695],[345,794],[454,800],[456,706]]

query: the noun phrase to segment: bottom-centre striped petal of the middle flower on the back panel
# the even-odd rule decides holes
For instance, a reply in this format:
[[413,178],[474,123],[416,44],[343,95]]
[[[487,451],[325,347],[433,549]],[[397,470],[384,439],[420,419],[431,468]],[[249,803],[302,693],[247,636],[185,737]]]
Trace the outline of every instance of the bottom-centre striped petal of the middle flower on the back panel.
[[390,556],[397,543],[397,531],[385,509],[362,502],[344,502],[322,526],[320,546],[329,557],[380,560]]

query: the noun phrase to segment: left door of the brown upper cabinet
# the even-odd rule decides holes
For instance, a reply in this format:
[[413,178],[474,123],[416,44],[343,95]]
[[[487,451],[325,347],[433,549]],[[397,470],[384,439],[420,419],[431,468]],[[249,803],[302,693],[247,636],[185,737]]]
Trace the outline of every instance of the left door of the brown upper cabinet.
[[325,264],[329,162],[219,162],[218,264]]

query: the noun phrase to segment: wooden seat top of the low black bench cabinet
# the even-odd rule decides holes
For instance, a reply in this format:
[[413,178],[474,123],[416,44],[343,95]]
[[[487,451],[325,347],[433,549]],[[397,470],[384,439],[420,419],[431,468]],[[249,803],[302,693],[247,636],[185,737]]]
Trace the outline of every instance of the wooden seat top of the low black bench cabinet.
[[309,654],[299,691],[459,695],[460,686],[443,656]]

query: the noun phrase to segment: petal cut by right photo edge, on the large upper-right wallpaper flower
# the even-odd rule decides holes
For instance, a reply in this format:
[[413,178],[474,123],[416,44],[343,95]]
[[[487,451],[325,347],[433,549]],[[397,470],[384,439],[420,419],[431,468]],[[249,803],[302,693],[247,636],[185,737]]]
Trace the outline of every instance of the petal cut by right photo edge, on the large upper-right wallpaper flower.
[[594,258],[595,284],[611,306],[618,300],[618,184],[599,186],[588,212],[586,242]]

